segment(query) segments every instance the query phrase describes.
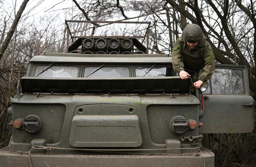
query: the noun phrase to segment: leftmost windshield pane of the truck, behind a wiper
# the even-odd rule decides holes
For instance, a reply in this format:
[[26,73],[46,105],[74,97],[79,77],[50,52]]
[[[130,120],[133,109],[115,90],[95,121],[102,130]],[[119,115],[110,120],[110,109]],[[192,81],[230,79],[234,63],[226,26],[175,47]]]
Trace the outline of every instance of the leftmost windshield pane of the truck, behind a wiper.
[[[38,75],[47,66],[36,66],[35,75]],[[78,67],[76,66],[52,66],[46,71],[42,72],[37,77],[49,78],[76,78],[78,77]]]

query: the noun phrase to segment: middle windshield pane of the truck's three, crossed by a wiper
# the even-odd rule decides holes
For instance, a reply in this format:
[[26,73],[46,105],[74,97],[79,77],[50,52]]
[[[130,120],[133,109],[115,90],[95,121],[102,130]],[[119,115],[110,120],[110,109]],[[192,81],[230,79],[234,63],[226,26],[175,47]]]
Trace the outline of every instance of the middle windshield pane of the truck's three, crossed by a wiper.
[[[96,70],[97,67],[85,67],[84,77]],[[118,78],[118,77],[130,77],[128,67],[102,67],[98,71],[94,72],[87,78]]]

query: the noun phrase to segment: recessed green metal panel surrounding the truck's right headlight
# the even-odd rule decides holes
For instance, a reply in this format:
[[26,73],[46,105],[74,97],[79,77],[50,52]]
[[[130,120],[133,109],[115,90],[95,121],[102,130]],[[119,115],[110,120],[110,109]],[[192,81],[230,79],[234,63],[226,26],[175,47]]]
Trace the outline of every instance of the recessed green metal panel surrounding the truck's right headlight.
[[195,130],[186,130],[177,135],[170,128],[170,121],[176,116],[182,116],[188,120],[198,122],[198,105],[149,105],[147,107],[148,126],[151,140],[156,144],[165,144],[166,140],[176,139],[180,141],[182,135],[198,135],[198,127]]

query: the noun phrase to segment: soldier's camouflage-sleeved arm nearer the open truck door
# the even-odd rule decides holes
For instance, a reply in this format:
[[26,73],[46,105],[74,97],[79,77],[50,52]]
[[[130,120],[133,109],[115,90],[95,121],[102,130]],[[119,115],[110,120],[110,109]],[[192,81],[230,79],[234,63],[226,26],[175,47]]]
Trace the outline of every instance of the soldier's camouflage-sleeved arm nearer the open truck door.
[[205,42],[205,55],[204,55],[204,69],[201,73],[199,80],[203,82],[209,80],[215,70],[215,56],[208,41]]

